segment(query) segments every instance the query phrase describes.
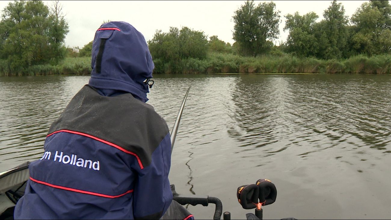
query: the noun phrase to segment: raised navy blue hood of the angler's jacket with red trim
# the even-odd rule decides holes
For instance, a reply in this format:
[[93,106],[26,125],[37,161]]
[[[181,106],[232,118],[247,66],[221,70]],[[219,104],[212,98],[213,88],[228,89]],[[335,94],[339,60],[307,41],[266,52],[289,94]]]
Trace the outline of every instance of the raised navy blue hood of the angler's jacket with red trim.
[[111,21],[95,32],[89,85],[131,93],[146,102],[154,63],[144,36],[132,25]]

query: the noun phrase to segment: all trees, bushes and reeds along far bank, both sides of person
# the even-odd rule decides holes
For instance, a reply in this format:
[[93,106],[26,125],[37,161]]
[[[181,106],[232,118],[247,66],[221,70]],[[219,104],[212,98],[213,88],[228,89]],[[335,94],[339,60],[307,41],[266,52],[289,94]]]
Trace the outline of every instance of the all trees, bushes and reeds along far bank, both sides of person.
[[[232,45],[186,26],[156,30],[147,42],[154,72],[391,72],[388,0],[365,2],[351,18],[335,0],[319,22],[314,12],[287,14],[283,30],[289,35],[278,46],[274,41],[280,35],[282,16],[274,2],[256,5],[247,0],[232,18]],[[43,74],[72,69],[89,74],[86,60],[92,41],[81,49],[65,48],[67,33],[58,1],[52,6],[39,0],[9,3],[0,21],[0,74],[32,74],[40,69]]]

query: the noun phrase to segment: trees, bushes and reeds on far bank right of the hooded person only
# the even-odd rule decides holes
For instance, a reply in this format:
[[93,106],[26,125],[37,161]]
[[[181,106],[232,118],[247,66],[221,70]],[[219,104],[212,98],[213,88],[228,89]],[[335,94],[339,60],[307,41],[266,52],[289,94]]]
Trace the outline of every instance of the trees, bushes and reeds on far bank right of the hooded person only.
[[[276,46],[280,13],[274,2],[244,2],[233,15],[233,45],[217,36],[207,40],[204,32],[188,27],[158,30],[148,41],[155,71],[391,73],[388,0],[362,4],[351,19],[335,0],[319,22],[314,12],[287,14],[283,30],[289,35]],[[274,65],[272,60],[284,63]]]

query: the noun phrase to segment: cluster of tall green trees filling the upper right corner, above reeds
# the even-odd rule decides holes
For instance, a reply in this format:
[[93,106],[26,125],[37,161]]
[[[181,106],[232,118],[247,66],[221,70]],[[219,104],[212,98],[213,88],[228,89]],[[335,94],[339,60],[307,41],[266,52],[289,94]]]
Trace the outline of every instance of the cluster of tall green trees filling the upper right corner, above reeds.
[[289,30],[285,51],[320,59],[372,56],[391,52],[391,6],[388,1],[371,0],[357,9],[349,20],[341,3],[333,1],[316,22],[317,14],[285,16]]

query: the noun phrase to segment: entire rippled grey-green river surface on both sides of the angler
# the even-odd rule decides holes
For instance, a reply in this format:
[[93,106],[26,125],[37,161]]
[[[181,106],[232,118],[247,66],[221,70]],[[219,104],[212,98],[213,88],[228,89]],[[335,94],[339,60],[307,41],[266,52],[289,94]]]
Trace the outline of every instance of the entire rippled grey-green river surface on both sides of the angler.
[[[88,78],[0,78],[0,172],[41,156]],[[268,178],[279,193],[265,218],[389,218],[390,75],[156,75],[147,103],[170,128],[190,83],[170,170],[179,194],[219,197],[243,219],[236,188]]]

